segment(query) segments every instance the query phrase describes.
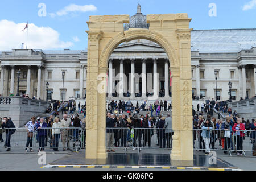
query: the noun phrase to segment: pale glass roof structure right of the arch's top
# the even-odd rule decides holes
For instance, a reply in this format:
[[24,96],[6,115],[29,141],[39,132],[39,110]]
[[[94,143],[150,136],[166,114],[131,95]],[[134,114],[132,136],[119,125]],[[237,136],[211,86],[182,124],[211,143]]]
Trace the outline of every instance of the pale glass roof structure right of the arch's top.
[[256,47],[256,29],[191,31],[191,51],[232,53],[251,47]]

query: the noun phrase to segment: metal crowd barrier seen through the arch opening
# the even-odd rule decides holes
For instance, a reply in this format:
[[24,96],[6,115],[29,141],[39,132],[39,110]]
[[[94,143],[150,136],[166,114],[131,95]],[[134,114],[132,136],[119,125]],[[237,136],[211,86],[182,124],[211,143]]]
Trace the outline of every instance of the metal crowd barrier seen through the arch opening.
[[141,149],[171,149],[173,132],[167,129],[156,128],[107,128],[106,129],[106,148],[128,148],[141,151]]

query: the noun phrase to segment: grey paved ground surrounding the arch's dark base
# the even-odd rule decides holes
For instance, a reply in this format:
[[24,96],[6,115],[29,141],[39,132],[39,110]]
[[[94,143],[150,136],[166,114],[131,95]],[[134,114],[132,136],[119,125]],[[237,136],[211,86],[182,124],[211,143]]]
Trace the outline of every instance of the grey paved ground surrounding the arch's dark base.
[[[81,150],[81,152],[85,152],[85,150]],[[117,152],[123,152],[123,150],[117,150]],[[132,150],[128,150],[128,152],[136,152]],[[168,153],[168,150],[143,150],[142,152],[151,152],[155,154],[159,153]],[[65,152],[58,152],[53,153],[51,150],[46,150],[46,164],[53,162],[54,160],[63,158],[65,155],[70,153],[70,151]],[[195,154],[202,154],[202,152],[196,152]],[[0,170],[6,171],[6,170],[41,170],[41,171],[126,171],[127,169],[118,169],[118,168],[41,168],[44,165],[38,164],[38,159],[40,156],[38,156],[37,152],[27,153],[25,154],[24,150],[16,148],[15,151],[12,150],[10,153],[7,153],[3,148],[0,148],[0,156],[1,156],[1,162],[0,162]],[[233,166],[236,166],[242,170],[256,170],[256,157],[253,156],[228,156],[222,154],[222,152],[217,152],[217,157],[221,160],[225,160],[226,162],[233,164]],[[130,168],[129,171],[141,171],[145,169],[132,169]],[[154,171],[159,169],[147,169],[147,171]],[[163,169],[172,171],[174,169]]]

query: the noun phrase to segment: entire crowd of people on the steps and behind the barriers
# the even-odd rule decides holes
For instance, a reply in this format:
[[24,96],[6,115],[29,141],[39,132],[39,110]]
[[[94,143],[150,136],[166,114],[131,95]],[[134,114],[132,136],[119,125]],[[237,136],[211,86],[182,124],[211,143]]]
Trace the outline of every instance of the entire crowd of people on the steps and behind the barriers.
[[[167,117],[162,117],[159,111],[171,110],[171,103],[167,109],[167,101],[155,101],[154,104],[148,105],[144,101],[141,106],[138,102],[134,106],[130,100],[111,101],[108,103],[108,114],[106,116],[106,135],[108,152],[114,152],[114,147],[127,147],[128,143],[133,146],[133,150],[141,150],[142,146],[152,147],[152,137],[155,135],[160,148],[172,148],[172,118],[168,114]],[[59,151],[59,140],[63,143],[63,150],[68,150],[67,141],[70,137],[77,139],[78,130],[71,129],[82,128],[83,142],[85,143],[85,117],[86,117],[86,102],[84,105],[78,103],[78,113],[76,111],[76,102],[71,100],[69,102],[56,101],[53,104],[53,110],[62,107],[63,118],[60,119],[59,113],[50,115],[46,119],[32,117],[26,124],[27,129],[27,144],[26,151],[32,152],[32,143],[36,131],[36,142],[39,143],[39,150],[44,150],[44,147],[49,143],[54,151]],[[221,150],[227,153],[229,150],[237,152],[240,156],[243,154],[243,141],[245,137],[250,138],[252,148],[256,150],[255,134],[256,121],[253,119],[245,121],[240,118],[238,113],[230,108],[226,111],[226,102],[216,102],[207,100],[204,104],[197,105],[197,113],[193,109],[193,144],[198,142],[198,150],[209,154],[210,150],[216,148],[216,142],[221,146]],[[226,119],[214,118],[213,110],[224,113],[228,112],[229,117]],[[51,109],[51,108],[49,108]],[[146,115],[139,114],[139,111],[147,111]],[[156,111],[155,117],[153,111]],[[125,114],[127,112],[127,115]],[[151,114],[150,114],[151,112]],[[84,118],[80,119],[79,114],[84,113]],[[204,114],[207,117],[204,118]],[[10,139],[11,135],[15,133],[15,126],[11,118],[0,118],[0,142],[5,142],[7,151],[11,150]],[[250,131],[250,132],[249,132]],[[6,133],[6,141],[3,140],[2,134]],[[253,152],[256,155],[256,152]]]

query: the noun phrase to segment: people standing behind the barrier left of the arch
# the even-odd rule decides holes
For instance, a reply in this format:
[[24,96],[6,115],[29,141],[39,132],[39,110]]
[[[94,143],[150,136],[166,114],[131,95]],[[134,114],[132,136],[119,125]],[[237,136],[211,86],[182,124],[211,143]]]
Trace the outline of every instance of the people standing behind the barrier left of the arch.
[[[1,119],[1,118],[0,118]],[[7,148],[7,151],[11,150],[11,135],[13,135],[16,131],[15,125],[11,118],[4,117],[2,122],[0,122],[0,141],[4,142],[2,139],[2,133],[6,133],[6,141],[4,147]],[[36,143],[39,143],[39,151],[44,151],[44,147],[49,144],[49,147],[53,151],[59,151],[59,140],[61,137],[61,141],[63,144],[63,151],[69,150],[69,146],[67,142],[69,138],[73,138],[74,140],[78,139],[79,129],[81,128],[81,138],[83,142],[83,146],[85,146],[85,138],[86,138],[86,120],[85,118],[80,119],[78,114],[72,114],[68,117],[67,114],[63,114],[63,118],[55,117],[53,119],[53,115],[50,115],[46,119],[44,118],[36,118],[32,117],[30,121],[28,121],[25,125],[27,130],[27,143],[26,143],[26,152],[32,150],[32,144],[34,135],[36,134]]]

